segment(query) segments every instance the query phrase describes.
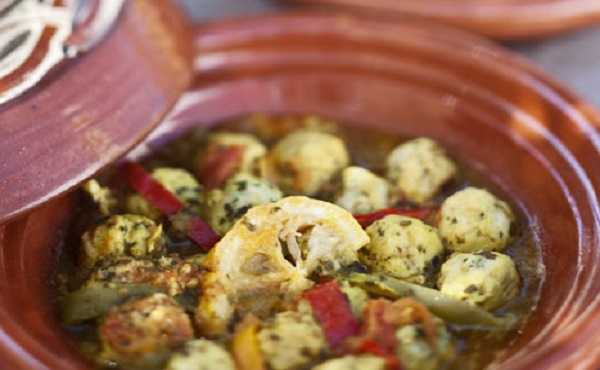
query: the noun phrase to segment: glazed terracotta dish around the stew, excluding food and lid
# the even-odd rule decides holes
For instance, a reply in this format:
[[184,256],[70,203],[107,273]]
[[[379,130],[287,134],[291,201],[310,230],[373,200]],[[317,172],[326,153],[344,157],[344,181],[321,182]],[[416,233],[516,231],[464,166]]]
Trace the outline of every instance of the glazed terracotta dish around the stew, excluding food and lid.
[[[544,251],[539,308],[494,368],[600,366],[600,118],[593,109],[486,41],[407,19],[262,17],[196,29],[195,46],[192,89],[131,156],[192,126],[254,111],[310,112],[431,136],[514,200]],[[49,287],[76,203],[71,193],[0,226],[7,368],[87,366],[60,329]]]

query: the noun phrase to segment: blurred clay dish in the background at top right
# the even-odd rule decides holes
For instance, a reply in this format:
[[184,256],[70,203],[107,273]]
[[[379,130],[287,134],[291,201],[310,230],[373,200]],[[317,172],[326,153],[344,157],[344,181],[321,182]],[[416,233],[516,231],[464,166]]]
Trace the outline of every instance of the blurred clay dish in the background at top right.
[[538,38],[600,22],[597,0],[287,0],[442,21],[497,39]]

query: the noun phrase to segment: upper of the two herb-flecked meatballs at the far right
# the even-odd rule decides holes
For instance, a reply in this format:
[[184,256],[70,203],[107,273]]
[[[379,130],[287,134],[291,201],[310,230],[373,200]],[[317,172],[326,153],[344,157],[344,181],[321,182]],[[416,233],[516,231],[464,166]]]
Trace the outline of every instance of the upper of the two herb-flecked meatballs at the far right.
[[452,251],[501,251],[510,240],[513,221],[508,204],[486,190],[469,187],[444,201],[439,230]]

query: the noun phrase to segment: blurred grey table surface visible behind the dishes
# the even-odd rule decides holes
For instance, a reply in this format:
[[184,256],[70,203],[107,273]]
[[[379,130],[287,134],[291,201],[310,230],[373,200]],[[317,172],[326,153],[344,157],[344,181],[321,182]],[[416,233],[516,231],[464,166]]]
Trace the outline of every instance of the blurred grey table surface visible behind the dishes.
[[[198,22],[292,8],[270,0],[180,1]],[[533,60],[554,78],[600,107],[600,26],[505,46]]]

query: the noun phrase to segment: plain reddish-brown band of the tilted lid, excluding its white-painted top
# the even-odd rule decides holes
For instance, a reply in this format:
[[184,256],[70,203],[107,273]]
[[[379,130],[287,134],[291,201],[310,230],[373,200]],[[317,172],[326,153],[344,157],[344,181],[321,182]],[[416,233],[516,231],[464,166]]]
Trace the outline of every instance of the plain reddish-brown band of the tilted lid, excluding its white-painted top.
[[190,42],[178,9],[135,0],[121,16],[97,48],[0,106],[0,222],[122,155],[188,86]]

